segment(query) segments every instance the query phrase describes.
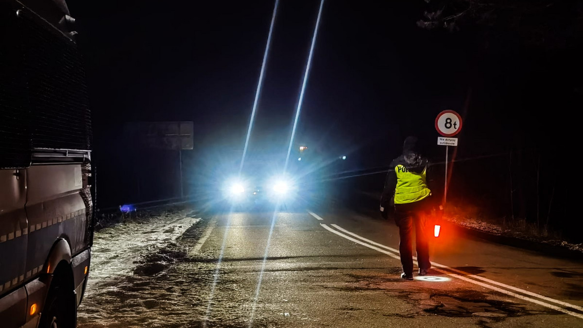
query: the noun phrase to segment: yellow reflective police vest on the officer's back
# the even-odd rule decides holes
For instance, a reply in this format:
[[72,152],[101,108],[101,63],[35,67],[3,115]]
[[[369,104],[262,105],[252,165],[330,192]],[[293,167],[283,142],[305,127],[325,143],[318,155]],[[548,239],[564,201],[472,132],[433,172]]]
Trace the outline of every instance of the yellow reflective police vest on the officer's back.
[[395,188],[395,204],[408,204],[419,202],[431,195],[431,190],[426,182],[427,167],[423,172],[410,172],[401,164],[396,165],[395,174],[397,185]]

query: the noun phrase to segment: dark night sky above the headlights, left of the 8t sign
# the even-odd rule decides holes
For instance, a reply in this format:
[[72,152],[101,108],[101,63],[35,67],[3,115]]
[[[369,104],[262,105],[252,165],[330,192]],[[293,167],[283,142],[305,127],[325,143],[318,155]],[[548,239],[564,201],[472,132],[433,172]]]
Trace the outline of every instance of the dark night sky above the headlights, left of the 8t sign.
[[[227,137],[240,146],[273,1],[110,3],[69,2],[96,146],[120,122],[171,120],[195,121],[208,142]],[[286,148],[318,5],[280,2],[252,146],[269,139]],[[466,55],[449,40],[460,35],[419,29],[422,12],[422,2],[325,3],[298,142],[398,152],[407,133],[436,136],[436,114],[463,105]]]

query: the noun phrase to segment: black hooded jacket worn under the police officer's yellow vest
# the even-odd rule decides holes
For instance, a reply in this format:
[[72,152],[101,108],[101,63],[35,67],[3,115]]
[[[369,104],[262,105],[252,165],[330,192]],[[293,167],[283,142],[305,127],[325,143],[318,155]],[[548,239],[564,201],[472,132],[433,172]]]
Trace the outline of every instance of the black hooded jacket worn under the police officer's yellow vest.
[[[385,187],[382,191],[381,196],[381,207],[386,209],[395,206],[395,188],[397,185],[397,175],[395,174],[396,165],[403,165],[407,170],[420,173],[427,168],[426,177],[427,185],[431,189],[431,193],[434,194],[434,189],[432,187],[433,182],[433,170],[431,170],[429,160],[420,154],[417,149],[417,138],[407,137],[405,143],[403,143],[403,153],[401,156],[395,158],[391,162],[389,171],[387,172],[387,178],[385,178]],[[435,197],[433,197],[435,198]]]

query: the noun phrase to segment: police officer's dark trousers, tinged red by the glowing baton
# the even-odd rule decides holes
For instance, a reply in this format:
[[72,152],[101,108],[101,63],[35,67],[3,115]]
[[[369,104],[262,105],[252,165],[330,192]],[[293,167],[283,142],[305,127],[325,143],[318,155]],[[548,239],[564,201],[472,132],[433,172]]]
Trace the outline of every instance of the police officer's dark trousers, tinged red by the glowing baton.
[[413,225],[415,225],[415,245],[417,248],[417,264],[419,269],[429,269],[429,216],[430,200],[408,204],[395,204],[395,223],[399,227],[399,253],[403,272],[413,273]]

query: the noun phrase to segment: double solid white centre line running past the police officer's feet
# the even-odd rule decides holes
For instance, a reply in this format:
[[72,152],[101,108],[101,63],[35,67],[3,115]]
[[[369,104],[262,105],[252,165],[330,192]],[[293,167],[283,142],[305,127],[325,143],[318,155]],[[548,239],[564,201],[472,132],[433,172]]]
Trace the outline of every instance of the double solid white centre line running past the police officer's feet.
[[[311,212],[308,212],[308,213],[310,213],[312,216],[316,217],[315,214],[312,214]],[[389,246],[379,244],[378,242],[371,241],[370,239],[361,237],[360,235],[354,234],[354,232],[350,232],[350,231],[340,227],[337,224],[331,224],[331,225],[332,225],[332,227],[334,227],[335,229],[338,229],[338,230],[335,230],[334,228],[331,228],[327,224],[324,224],[324,223],[321,223],[320,225],[323,228],[325,228],[326,230],[332,232],[333,234],[339,235],[342,238],[356,242],[356,244],[366,246],[367,248],[374,249],[377,252],[384,253],[385,255],[391,256],[391,258],[401,260],[401,257],[398,255],[399,251],[395,248],[391,248]],[[356,237],[358,239],[353,238],[353,237]],[[416,257],[413,256],[413,259],[416,260]],[[494,280],[490,280],[488,278],[476,276],[475,274],[469,274],[465,271],[453,269],[451,267],[445,266],[445,265],[440,264],[440,263],[431,262],[431,264],[433,264],[433,266],[436,267],[436,268],[434,268],[434,270],[439,271],[439,272],[444,273],[444,274],[447,274],[448,276],[455,277],[455,278],[458,278],[460,280],[467,281],[468,283],[479,285],[481,287],[488,288],[490,290],[494,290],[494,291],[501,292],[503,294],[506,294],[506,295],[509,295],[509,296],[512,296],[512,297],[515,297],[518,299],[522,299],[523,301],[528,301],[528,302],[531,302],[531,303],[534,303],[537,305],[545,306],[546,308],[550,308],[550,309],[553,309],[555,311],[563,312],[563,313],[566,313],[568,315],[575,316],[576,318],[583,319],[583,315],[581,313],[577,313],[577,312],[573,312],[573,311],[570,311],[570,310],[567,310],[564,308],[560,308],[559,306],[549,304],[547,302],[552,302],[554,304],[563,305],[566,308],[576,309],[578,311],[583,312],[583,308],[581,306],[577,306],[574,304],[563,302],[563,301],[560,301],[558,299],[545,297],[543,295],[539,295],[539,294],[536,294],[534,292],[522,290],[521,288],[517,288],[517,287],[507,285],[507,284],[499,283],[498,281],[494,281]],[[441,268],[441,269],[438,269],[438,268]],[[445,269],[445,270],[443,270],[443,269]],[[489,284],[486,284],[486,283],[483,283],[482,281],[477,281],[477,280],[486,281]],[[504,288],[506,288],[506,289],[504,289]],[[515,292],[512,292],[510,290],[515,291]],[[544,299],[547,302],[543,302],[543,301],[540,301],[539,299],[527,297],[525,295],[517,294],[516,292],[520,292],[522,294],[536,297],[539,299]]]

